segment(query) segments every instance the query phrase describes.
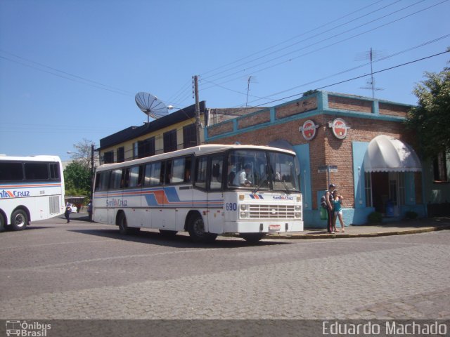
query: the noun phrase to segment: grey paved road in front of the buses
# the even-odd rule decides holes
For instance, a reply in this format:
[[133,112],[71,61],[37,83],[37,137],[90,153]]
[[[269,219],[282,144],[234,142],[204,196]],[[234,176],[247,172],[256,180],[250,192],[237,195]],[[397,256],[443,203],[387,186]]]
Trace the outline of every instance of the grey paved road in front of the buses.
[[449,246],[449,230],[194,244],[53,218],[0,233],[0,319],[449,319]]

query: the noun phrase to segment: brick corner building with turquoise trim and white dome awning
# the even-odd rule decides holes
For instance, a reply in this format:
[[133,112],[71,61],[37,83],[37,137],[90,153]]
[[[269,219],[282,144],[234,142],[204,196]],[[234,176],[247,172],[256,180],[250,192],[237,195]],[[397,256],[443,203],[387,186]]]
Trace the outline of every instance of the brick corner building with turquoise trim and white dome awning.
[[205,129],[206,143],[271,145],[300,164],[305,226],[325,227],[319,200],[328,183],[344,197],[346,225],[373,211],[390,220],[425,216],[422,167],[403,121],[411,105],[318,91]]

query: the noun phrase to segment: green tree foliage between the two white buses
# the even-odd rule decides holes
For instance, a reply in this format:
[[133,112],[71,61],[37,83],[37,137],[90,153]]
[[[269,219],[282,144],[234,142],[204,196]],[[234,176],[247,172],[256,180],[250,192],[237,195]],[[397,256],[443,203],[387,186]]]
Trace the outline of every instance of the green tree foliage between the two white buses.
[[72,161],[64,170],[66,195],[90,195],[91,171],[77,161]]

